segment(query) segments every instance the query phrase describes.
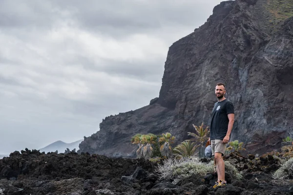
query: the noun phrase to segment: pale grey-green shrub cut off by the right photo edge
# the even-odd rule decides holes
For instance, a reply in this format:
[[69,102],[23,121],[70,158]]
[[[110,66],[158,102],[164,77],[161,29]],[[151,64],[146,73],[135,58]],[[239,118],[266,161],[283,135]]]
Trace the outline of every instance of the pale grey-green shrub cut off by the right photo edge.
[[293,158],[286,161],[281,167],[273,173],[274,179],[293,179]]

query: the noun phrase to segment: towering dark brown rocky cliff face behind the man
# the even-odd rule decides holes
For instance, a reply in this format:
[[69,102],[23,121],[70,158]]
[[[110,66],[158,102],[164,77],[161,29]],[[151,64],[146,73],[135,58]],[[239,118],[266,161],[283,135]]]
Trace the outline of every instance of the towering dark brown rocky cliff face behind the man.
[[217,5],[204,25],[169,48],[159,98],[106,117],[81,151],[131,157],[137,133],[170,132],[183,141],[192,124],[209,125],[217,82],[226,83],[235,106],[231,139],[245,142],[250,153],[280,147],[293,135],[293,17],[275,14],[272,2]]

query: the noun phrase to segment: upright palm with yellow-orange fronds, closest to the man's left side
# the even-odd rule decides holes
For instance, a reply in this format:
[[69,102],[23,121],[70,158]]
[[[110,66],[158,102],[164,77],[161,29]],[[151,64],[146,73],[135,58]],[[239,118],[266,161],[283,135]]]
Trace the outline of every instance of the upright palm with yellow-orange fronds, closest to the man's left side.
[[192,126],[194,127],[196,134],[191,133],[191,132],[188,132],[187,134],[188,134],[188,136],[194,137],[193,139],[189,139],[189,140],[196,140],[196,141],[200,142],[201,147],[199,149],[199,156],[202,157],[204,154],[204,151],[205,151],[204,150],[204,142],[209,139],[209,137],[208,137],[209,136],[209,130],[208,130],[209,127],[206,127],[204,129],[204,123],[202,123],[201,126],[199,126],[199,127],[194,124],[192,124]]

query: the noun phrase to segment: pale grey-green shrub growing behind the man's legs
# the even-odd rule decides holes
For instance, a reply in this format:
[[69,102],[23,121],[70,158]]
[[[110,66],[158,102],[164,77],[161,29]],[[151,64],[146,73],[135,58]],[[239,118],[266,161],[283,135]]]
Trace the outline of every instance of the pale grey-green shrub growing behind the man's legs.
[[[156,172],[160,174],[161,179],[180,179],[192,175],[206,176],[208,173],[213,172],[213,164],[213,161],[209,163],[200,162],[193,156],[181,159],[168,158],[164,161],[163,165],[158,165]],[[229,173],[233,179],[242,177],[237,169],[228,161],[225,162],[225,172]]]

